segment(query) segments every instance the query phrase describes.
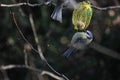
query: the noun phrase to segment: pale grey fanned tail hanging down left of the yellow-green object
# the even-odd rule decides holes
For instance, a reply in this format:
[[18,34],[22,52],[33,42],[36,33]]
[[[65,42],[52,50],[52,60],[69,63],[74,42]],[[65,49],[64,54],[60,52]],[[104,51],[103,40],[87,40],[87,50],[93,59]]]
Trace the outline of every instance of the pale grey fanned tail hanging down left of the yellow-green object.
[[62,23],[62,7],[61,6],[55,7],[55,9],[51,15],[51,18]]

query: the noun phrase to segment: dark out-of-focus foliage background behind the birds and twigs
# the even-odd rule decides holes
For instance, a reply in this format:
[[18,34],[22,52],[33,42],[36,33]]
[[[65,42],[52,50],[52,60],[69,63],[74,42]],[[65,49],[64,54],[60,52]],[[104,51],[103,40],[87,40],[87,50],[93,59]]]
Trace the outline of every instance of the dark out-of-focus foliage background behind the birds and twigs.
[[[0,3],[27,2],[41,3],[43,0],[1,0]],[[79,1],[79,0],[78,0]],[[120,5],[119,0],[90,0],[100,7]],[[0,65],[24,64],[26,42],[17,31],[10,10],[15,13],[18,25],[25,37],[36,48],[29,22],[29,14],[34,18],[35,27],[42,51],[49,63],[71,80],[120,80],[120,60],[100,54],[87,48],[85,51],[74,51],[70,58],[63,57],[64,51],[74,34],[71,21],[72,10],[63,9],[63,23],[50,18],[55,6],[14,8],[0,7]],[[120,9],[99,11],[93,9],[89,30],[94,34],[94,41],[120,52]],[[40,69],[49,70],[40,60],[37,53],[28,50],[28,63]],[[26,69],[7,70],[10,80],[39,80],[38,74]],[[40,77],[40,76],[39,76]],[[51,78],[46,80],[53,80]],[[3,75],[0,73],[0,80]]]

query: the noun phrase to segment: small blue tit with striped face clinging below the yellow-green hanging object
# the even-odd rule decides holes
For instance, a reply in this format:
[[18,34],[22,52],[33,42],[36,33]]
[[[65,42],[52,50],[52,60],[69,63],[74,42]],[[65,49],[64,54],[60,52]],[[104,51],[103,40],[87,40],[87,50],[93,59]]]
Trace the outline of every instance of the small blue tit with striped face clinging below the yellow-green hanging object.
[[66,58],[70,56],[70,54],[75,49],[83,50],[91,41],[93,40],[93,34],[86,30],[84,32],[76,32],[71,40],[70,47],[63,54]]

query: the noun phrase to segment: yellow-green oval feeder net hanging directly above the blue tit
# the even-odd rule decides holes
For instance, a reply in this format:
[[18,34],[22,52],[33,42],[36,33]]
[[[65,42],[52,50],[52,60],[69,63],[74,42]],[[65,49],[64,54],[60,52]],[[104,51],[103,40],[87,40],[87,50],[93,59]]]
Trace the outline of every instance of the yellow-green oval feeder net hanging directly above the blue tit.
[[75,30],[85,30],[92,17],[92,8],[88,0],[80,2],[73,10],[72,23]]

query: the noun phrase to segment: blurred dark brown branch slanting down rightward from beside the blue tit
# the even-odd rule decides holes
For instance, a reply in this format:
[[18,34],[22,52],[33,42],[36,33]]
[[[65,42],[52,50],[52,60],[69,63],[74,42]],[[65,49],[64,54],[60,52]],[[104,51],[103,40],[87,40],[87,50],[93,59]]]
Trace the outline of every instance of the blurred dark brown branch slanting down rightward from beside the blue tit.
[[120,60],[120,53],[117,53],[117,52],[115,52],[113,50],[110,50],[110,49],[108,49],[106,47],[103,47],[103,46],[101,46],[101,45],[99,45],[99,44],[97,44],[95,42],[92,42],[89,45],[89,47],[93,48],[94,50],[96,50],[96,51],[98,51],[100,53],[103,53],[105,55],[108,55],[108,56],[111,56],[111,57],[113,57],[115,59],[119,59]]

